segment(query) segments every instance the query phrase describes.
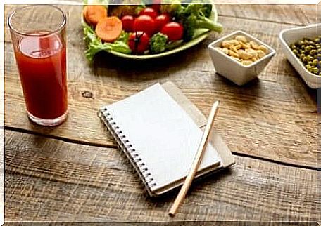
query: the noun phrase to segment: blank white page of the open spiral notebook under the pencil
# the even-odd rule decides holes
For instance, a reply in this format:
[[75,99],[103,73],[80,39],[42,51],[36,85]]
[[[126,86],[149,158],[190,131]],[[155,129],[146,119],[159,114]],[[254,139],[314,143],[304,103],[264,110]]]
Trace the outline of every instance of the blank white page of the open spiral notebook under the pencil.
[[[203,133],[160,84],[108,105],[108,112],[151,173],[151,190],[187,175]],[[217,164],[220,157],[208,145],[199,169]]]

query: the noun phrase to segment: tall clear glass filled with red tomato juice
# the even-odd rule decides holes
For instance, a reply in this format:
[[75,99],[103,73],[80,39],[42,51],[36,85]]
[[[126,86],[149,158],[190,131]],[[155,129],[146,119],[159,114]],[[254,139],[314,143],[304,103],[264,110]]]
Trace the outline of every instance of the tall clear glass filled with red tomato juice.
[[23,6],[8,18],[27,114],[42,126],[68,114],[65,24],[65,13],[51,5]]

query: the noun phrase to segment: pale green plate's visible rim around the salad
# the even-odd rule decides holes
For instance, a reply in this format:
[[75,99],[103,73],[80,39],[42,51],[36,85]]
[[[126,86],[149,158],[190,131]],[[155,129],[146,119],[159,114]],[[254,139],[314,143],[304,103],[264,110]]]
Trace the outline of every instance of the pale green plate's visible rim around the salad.
[[[215,8],[215,5],[213,4],[212,7],[212,15],[210,18],[217,22],[218,21],[218,11]],[[84,22],[84,20],[82,20]],[[146,54],[146,55],[132,55],[132,54],[125,54],[125,53],[119,53],[116,51],[106,51],[108,53],[111,53],[113,55],[116,55],[120,58],[127,58],[127,59],[132,59],[132,60],[147,60],[147,59],[154,59],[154,58],[163,58],[166,55],[172,55],[175,53],[179,53],[181,51],[186,50],[187,48],[191,48],[192,46],[195,46],[196,44],[199,44],[201,41],[207,38],[208,34],[210,34],[210,31],[208,29],[199,29],[197,31],[199,35],[196,36],[196,38],[192,39],[189,42],[183,43],[181,46],[178,46],[177,48],[173,48],[170,51],[165,51],[163,53],[157,53],[157,54]]]

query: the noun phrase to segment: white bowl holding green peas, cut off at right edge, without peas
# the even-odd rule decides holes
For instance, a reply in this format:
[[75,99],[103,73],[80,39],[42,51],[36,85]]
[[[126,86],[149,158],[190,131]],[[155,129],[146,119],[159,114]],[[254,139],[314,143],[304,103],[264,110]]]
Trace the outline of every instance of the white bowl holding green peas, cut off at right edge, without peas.
[[321,88],[321,76],[309,72],[296,55],[294,55],[289,46],[303,38],[315,38],[319,29],[321,29],[321,24],[284,29],[279,33],[284,54],[310,88]]

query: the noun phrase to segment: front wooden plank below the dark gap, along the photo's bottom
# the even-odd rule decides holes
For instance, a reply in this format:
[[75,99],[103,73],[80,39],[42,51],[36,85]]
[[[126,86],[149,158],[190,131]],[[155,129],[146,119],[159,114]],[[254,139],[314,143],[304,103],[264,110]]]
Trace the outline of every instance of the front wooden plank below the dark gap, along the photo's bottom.
[[116,149],[88,147],[6,131],[6,220],[315,221],[320,218],[317,171],[237,157],[191,187],[175,218],[175,193],[146,197]]

